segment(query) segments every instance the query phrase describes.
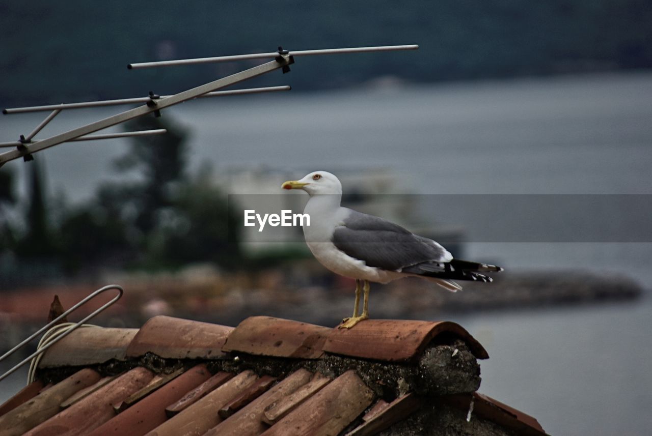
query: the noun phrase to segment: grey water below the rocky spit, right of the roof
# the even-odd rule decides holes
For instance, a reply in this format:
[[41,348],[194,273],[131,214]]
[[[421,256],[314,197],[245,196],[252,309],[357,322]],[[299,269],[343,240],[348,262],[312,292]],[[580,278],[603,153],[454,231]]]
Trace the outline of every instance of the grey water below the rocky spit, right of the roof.
[[551,435],[648,435],[652,299],[452,317],[474,334],[480,392],[535,416]]

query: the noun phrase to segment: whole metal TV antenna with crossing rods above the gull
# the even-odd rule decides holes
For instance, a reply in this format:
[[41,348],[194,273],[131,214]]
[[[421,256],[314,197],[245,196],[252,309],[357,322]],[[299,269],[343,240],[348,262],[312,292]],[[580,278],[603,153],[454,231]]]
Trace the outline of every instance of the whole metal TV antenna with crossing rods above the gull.
[[[250,88],[250,89],[236,89],[236,90],[219,90],[235,83],[239,83],[253,77],[258,77],[259,75],[267,74],[274,70],[282,69],[284,73],[289,72],[289,66],[295,62],[295,57],[301,56],[310,56],[310,55],[334,55],[340,53],[367,53],[373,51],[397,51],[397,50],[414,50],[418,49],[417,45],[409,46],[378,46],[378,47],[359,47],[359,48],[336,48],[336,49],[318,49],[318,50],[299,50],[299,51],[288,51],[284,50],[282,47],[278,48],[278,51],[272,51],[269,53],[252,53],[248,55],[233,55],[233,56],[218,56],[218,57],[203,57],[196,59],[177,59],[173,61],[158,61],[158,62],[141,62],[136,64],[128,64],[127,68],[129,70],[137,70],[140,68],[152,68],[159,66],[175,66],[175,65],[192,65],[192,64],[205,64],[211,62],[231,62],[231,61],[244,61],[250,59],[272,59],[269,62],[265,62],[253,68],[248,68],[241,72],[222,77],[215,81],[205,83],[198,87],[188,89],[177,94],[169,96],[160,96],[149,92],[149,96],[145,97],[136,97],[136,98],[123,98],[119,100],[102,100],[96,102],[80,102],[80,103],[61,103],[58,105],[44,105],[44,106],[32,106],[32,107],[16,107],[12,109],[3,109],[3,114],[16,114],[16,113],[29,113],[29,112],[39,112],[39,111],[50,111],[50,114],[36,126],[31,133],[27,136],[20,135],[18,141],[12,141],[8,143],[0,143],[0,148],[7,147],[13,148],[8,152],[0,154],[0,167],[12,161],[23,157],[23,160],[30,161],[34,159],[32,156],[36,152],[45,150],[46,148],[68,143],[72,141],[93,141],[97,139],[110,139],[117,137],[135,137],[135,136],[144,136],[144,135],[158,135],[161,133],[166,133],[166,129],[152,129],[152,130],[141,130],[141,131],[128,131],[121,133],[99,133],[91,135],[96,131],[115,126],[116,124],[121,124],[133,118],[138,118],[138,116],[147,115],[149,113],[154,113],[155,116],[160,116],[160,111],[166,107],[173,106],[178,103],[186,102],[187,100],[192,100],[193,98],[198,97],[219,97],[219,96],[230,96],[238,94],[253,94],[258,92],[275,92],[275,91],[285,91],[290,90],[289,86],[278,86],[278,87],[263,87],[263,88]],[[84,126],[78,127],[76,129],[68,130],[58,135],[53,135],[46,139],[34,139],[38,132],[40,132],[48,123],[50,123],[55,116],[57,116],[61,111],[67,109],[80,109],[86,107],[100,107],[100,106],[110,106],[110,105],[126,105],[134,103],[145,103],[141,106],[135,107],[128,111],[117,113],[107,118],[102,118],[95,122],[85,124]]]

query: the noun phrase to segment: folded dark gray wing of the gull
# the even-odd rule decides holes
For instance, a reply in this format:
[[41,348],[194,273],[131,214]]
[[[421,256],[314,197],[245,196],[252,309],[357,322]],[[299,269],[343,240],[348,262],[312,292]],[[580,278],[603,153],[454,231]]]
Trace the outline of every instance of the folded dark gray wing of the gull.
[[432,239],[417,236],[386,219],[352,210],[333,232],[333,243],[367,266],[398,271],[423,262],[448,262],[451,254]]

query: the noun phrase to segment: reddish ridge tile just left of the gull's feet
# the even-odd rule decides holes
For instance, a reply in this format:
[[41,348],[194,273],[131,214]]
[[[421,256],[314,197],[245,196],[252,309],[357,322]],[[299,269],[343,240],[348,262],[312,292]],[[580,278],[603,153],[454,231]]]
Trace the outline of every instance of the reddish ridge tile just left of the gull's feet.
[[253,355],[318,359],[328,327],[283,320],[270,316],[252,316],[242,321],[229,335],[223,351],[241,351]]

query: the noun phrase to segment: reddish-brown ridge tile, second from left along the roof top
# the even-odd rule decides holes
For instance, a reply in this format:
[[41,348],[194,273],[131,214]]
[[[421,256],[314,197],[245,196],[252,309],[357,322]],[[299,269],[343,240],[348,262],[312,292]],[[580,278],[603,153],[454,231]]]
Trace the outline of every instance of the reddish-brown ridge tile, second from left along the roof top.
[[149,352],[169,359],[220,359],[232,330],[224,325],[155,316],[136,333],[126,355],[140,357]]

